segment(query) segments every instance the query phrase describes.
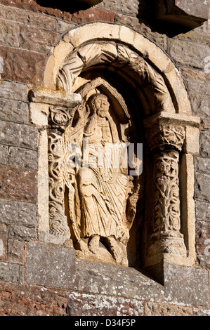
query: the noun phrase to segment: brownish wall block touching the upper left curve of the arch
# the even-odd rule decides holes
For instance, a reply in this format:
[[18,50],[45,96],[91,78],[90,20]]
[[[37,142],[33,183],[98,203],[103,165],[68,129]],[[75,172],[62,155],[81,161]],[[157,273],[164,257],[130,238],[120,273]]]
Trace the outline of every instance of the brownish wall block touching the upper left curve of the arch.
[[60,34],[39,27],[20,25],[20,48],[48,54]]

